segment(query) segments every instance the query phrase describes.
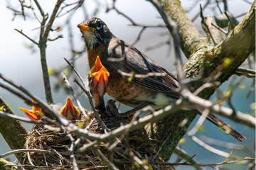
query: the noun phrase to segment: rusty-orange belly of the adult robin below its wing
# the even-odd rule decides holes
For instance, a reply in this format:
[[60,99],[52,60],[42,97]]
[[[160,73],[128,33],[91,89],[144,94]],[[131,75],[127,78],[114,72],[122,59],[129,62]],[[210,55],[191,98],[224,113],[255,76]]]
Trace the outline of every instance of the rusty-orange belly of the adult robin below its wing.
[[146,101],[151,101],[154,91],[119,77],[110,77],[107,85],[107,94],[114,98],[115,101],[136,107]]

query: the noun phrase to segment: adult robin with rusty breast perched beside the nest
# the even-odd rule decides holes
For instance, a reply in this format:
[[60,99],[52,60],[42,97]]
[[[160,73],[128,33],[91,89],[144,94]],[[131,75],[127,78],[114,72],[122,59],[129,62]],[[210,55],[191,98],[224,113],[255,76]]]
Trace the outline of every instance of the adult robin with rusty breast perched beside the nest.
[[[110,73],[106,92],[114,100],[134,108],[150,103],[153,108],[159,109],[174,104],[180,97],[178,91],[181,85],[174,75],[137,48],[115,37],[100,18],[83,21],[78,28],[85,40],[89,67],[92,68],[97,56],[100,56]],[[124,77],[126,74],[130,77]],[[136,74],[144,76],[133,76]],[[233,137],[245,139],[215,115],[208,114],[207,119],[221,125]]]

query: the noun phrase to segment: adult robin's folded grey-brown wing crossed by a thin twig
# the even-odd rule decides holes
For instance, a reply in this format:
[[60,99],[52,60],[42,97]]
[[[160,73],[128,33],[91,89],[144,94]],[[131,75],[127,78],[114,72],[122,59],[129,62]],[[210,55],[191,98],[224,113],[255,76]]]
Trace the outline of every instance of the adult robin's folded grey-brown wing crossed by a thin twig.
[[[127,81],[129,79],[129,81],[153,91],[159,91],[168,96],[179,98],[180,95],[177,91],[180,89],[180,85],[176,77],[142,52],[117,38],[112,38],[108,49],[108,57],[102,60],[102,64],[109,70],[110,76],[117,73],[117,76],[127,79]],[[129,78],[125,77],[122,73],[142,75],[153,73],[153,75],[143,78]],[[159,75],[160,73],[161,76]]]

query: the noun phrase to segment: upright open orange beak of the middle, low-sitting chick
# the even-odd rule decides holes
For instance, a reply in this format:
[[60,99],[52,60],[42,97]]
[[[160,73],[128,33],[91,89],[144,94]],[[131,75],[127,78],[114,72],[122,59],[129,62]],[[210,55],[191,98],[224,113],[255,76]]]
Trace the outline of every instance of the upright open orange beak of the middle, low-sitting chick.
[[71,99],[68,97],[65,105],[60,110],[60,115],[65,116],[68,120],[78,119],[80,115],[80,111],[78,108],[72,103]]

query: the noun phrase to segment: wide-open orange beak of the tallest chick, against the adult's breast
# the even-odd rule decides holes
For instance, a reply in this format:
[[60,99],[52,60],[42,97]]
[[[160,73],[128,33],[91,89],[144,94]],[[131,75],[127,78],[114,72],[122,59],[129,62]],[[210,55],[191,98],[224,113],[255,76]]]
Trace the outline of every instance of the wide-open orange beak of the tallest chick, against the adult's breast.
[[110,76],[110,72],[107,72],[107,69],[100,62],[100,57],[97,56],[95,65],[90,70],[90,77],[94,77],[96,81],[102,82],[108,81],[108,77]]

